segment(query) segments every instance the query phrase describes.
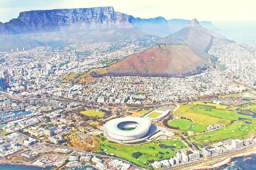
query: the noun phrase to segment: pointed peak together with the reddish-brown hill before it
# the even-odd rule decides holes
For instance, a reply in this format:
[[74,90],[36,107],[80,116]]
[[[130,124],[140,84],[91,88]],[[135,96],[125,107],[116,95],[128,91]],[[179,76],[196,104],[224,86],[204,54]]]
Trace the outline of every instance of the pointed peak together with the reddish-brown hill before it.
[[91,76],[190,76],[215,68],[217,58],[207,53],[210,47],[233,41],[203,28],[192,19],[183,29],[158,42],[161,45],[128,56],[100,72],[95,70]]

